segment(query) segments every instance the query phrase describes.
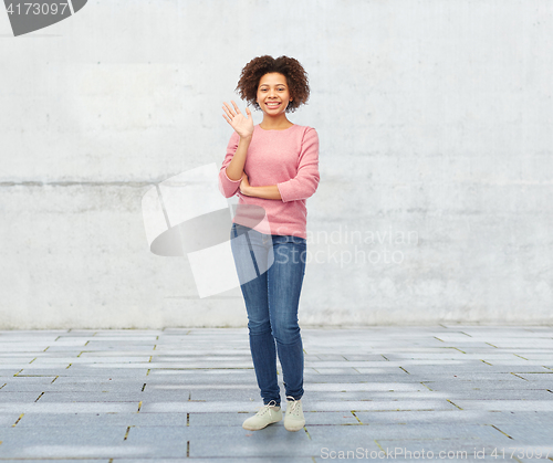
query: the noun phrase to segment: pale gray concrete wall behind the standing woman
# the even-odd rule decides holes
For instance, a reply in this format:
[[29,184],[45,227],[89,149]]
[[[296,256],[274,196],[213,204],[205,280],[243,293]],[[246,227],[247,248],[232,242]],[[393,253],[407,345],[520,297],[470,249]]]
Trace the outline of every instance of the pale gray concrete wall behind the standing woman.
[[220,165],[261,54],[305,66],[290,119],[321,140],[302,324],[551,324],[552,28],[549,0],[90,1],[19,38],[0,13],[0,329],[246,325],[239,288],[149,252],[142,198]]

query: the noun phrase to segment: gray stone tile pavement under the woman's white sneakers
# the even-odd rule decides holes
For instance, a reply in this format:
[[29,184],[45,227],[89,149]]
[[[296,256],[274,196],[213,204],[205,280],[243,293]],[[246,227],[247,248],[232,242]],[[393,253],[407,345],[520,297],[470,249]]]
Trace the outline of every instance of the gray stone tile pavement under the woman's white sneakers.
[[553,327],[302,335],[291,433],[241,428],[247,328],[0,332],[0,462],[553,461]]

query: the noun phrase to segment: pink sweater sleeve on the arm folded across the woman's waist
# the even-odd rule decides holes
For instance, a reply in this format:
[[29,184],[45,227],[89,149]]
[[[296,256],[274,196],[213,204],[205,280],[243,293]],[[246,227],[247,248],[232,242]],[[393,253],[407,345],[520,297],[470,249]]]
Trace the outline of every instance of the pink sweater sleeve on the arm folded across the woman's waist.
[[309,127],[303,135],[298,175],[276,183],[283,202],[307,199],[319,186],[319,135]]

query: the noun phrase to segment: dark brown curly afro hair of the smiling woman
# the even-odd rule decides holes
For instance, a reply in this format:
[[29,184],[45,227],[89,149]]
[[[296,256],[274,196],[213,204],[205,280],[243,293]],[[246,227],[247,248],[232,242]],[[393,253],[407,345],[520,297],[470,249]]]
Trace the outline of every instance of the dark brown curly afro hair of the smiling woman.
[[293,98],[286,107],[286,113],[293,113],[310,97],[307,73],[298,60],[280,56],[276,60],[270,55],[257,56],[243,69],[236,91],[242,99],[261,109],[257,102],[259,81],[265,74],[278,72],[286,77],[290,96]]

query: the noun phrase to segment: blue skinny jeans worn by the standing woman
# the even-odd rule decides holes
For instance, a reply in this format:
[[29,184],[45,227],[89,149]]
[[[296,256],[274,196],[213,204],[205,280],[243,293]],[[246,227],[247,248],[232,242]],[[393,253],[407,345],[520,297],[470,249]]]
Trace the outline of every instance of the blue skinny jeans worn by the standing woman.
[[303,396],[298,306],[306,248],[304,238],[263,234],[232,223],[232,255],[248,312],[251,357],[265,404],[271,400],[280,404],[276,348],[286,397],[300,400]]

